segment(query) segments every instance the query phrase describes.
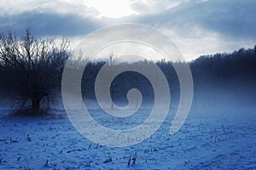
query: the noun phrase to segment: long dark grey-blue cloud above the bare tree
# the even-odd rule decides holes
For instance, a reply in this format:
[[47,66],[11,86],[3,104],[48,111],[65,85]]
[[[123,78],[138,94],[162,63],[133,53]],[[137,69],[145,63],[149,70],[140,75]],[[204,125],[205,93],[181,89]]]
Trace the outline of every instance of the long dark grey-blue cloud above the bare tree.
[[37,36],[79,36],[102,27],[100,20],[77,14],[40,13],[37,11],[23,12],[0,16],[1,31],[23,33],[31,27]]

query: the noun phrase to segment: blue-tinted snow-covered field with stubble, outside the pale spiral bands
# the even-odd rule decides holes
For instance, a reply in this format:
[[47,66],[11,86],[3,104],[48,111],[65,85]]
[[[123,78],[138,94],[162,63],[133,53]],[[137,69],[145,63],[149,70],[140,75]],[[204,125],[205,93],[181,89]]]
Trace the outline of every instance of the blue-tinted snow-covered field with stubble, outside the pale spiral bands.
[[[7,113],[1,111],[0,118],[0,169],[256,168],[254,114],[191,113],[172,136],[168,135],[172,122],[168,116],[149,139],[114,148],[85,139],[69,122],[65,111],[44,117],[7,116]],[[95,117],[108,127],[140,122],[135,118],[127,125],[109,117],[97,114]]]

